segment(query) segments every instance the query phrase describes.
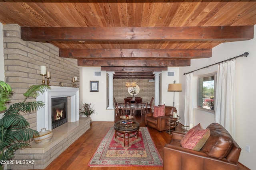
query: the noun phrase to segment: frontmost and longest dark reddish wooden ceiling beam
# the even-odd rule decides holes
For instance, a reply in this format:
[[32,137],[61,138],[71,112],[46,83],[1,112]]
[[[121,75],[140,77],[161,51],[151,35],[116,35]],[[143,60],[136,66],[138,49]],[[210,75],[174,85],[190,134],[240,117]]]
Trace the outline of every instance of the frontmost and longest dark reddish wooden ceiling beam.
[[26,41],[241,41],[252,39],[250,26],[196,27],[21,27]]

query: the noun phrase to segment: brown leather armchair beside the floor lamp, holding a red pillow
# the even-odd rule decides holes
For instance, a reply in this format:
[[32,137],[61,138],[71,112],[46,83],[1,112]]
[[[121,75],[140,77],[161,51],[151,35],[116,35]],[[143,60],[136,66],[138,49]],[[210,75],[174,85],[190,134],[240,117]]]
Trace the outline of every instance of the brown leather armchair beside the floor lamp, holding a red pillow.
[[158,131],[167,130],[169,129],[169,126],[166,125],[167,119],[169,119],[169,115],[173,115],[174,112],[176,112],[175,107],[165,106],[164,116],[154,117],[153,112],[145,113],[145,125],[157,129]]

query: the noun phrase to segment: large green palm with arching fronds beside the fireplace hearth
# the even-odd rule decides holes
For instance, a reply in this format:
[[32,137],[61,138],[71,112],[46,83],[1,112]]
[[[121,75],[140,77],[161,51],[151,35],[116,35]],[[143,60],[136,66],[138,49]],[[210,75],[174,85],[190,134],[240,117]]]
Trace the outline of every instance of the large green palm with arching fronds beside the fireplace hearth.
[[20,112],[31,113],[44,107],[44,102],[26,102],[26,100],[36,98],[40,92],[43,93],[46,89],[50,89],[50,86],[30,86],[27,92],[23,94],[25,96],[23,102],[14,103],[6,109],[6,102],[10,101],[12,89],[7,83],[0,81],[0,111],[5,110],[2,119],[0,119],[0,170],[3,169],[2,160],[12,160],[16,150],[29,147],[28,141],[33,136],[39,135],[38,131],[29,128],[28,121],[20,115]]

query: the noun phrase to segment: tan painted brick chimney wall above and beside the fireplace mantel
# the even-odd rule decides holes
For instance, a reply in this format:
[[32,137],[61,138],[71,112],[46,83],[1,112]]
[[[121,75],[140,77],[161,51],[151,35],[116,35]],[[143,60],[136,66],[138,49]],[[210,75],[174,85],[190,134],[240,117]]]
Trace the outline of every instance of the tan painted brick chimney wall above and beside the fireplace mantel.
[[[74,76],[79,82],[77,60],[60,58],[59,49],[54,45],[20,39],[20,26],[16,24],[3,25],[3,37],[5,82],[14,92],[11,103],[22,102],[23,94],[30,86],[42,84],[41,65],[51,72],[51,86],[59,86],[63,82],[65,86],[72,87]],[[36,129],[36,113],[23,116],[30,123],[30,128]]]

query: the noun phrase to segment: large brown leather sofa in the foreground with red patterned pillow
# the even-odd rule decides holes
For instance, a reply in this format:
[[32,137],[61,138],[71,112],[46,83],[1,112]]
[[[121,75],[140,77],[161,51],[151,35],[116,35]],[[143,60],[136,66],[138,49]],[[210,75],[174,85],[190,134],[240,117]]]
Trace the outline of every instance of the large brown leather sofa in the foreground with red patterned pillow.
[[210,137],[200,151],[182,148],[184,133],[173,132],[170,144],[164,146],[164,170],[238,170],[241,148],[236,141],[218,123],[207,128]]

